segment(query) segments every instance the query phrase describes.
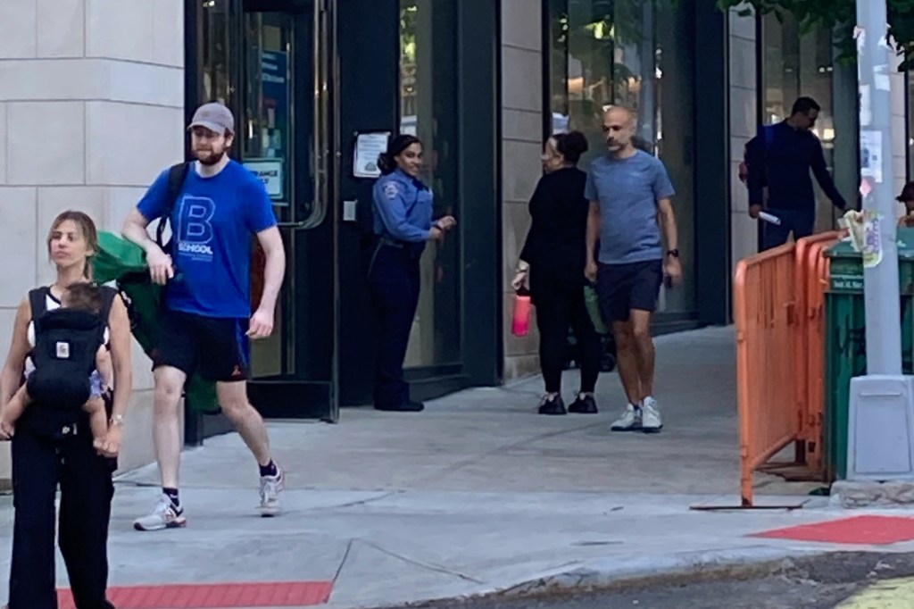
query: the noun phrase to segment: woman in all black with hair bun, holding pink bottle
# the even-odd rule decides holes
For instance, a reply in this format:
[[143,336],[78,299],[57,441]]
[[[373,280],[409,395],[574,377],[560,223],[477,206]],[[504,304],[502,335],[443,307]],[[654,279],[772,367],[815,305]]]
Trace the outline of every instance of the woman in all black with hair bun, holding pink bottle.
[[584,305],[590,202],[584,198],[587,174],[577,166],[587,147],[587,139],[576,131],[547,140],[543,154],[547,173],[530,199],[533,222],[513,282],[515,289],[529,287],[537,307],[539,360],[547,392],[540,414],[566,413],[561,380],[569,326],[580,350],[580,390],[568,410],[597,412],[593,391],[600,374],[600,337]]

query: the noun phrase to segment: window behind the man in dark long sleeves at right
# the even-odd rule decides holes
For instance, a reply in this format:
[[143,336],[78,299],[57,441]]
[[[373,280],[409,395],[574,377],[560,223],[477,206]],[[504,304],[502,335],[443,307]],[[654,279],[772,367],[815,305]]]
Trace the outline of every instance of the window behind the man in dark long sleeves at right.
[[[808,96],[822,106],[813,133],[822,142],[825,165],[834,163],[834,44],[829,30],[801,34],[792,15],[762,17],[762,80],[765,124],[790,116],[793,102]],[[817,201],[816,230],[832,230],[834,206],[813,179]]]

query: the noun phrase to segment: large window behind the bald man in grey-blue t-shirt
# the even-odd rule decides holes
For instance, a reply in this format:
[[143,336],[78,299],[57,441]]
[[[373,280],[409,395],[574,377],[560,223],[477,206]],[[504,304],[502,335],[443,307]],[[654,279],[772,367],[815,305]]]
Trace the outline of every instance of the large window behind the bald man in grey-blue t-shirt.
[[[549,0],[547,55],[552,133],[577,130],[605,154],[602,114],[613,104],[637,114],[638,145],[659,155],[676,189],[685,282],[664,290],[660,310],[695,308],[694,69],[689,15],[673,3]],[[664,121],[664,117],[669,120]]]

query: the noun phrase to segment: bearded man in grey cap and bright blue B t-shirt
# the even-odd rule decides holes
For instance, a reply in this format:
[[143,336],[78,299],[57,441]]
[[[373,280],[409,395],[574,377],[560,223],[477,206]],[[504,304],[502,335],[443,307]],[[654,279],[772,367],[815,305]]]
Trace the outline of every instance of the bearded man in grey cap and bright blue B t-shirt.
[[[270,454],[266,426],[248,401],[249,339],[269,337],[285,274],[285,252],[270,197],[260,180],[228,158],[235,134],[231,112],[220,103],[201,106],[190,124],[197,161],[169,216],[169,252],[146,227],[165,214],[168,170],[155,180],[123,226],[140,245],[155,283],[166,285],[165,315],[153,357],[155,456],[162,497],[153,512],[134,521],[138,530],[183,527],[178,497],[181,436],[178,404],[187,377],[199,371],[216,381],[218,402],[260,465],[260,513],[279,513],[282,469]],[[266,254],[263,295],[250,315],[251,236]]]

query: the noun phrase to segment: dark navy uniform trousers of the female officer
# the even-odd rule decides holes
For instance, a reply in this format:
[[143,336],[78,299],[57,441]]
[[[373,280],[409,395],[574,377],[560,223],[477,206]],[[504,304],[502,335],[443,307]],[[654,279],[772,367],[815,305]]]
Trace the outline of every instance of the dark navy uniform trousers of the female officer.
[[396,407],[409,401],[403,359],[409,330],[419,306],[420,253],[409,246],[380,245],[368,275],[378,322],[375,406]]

